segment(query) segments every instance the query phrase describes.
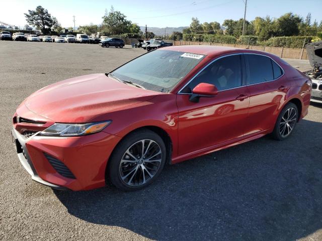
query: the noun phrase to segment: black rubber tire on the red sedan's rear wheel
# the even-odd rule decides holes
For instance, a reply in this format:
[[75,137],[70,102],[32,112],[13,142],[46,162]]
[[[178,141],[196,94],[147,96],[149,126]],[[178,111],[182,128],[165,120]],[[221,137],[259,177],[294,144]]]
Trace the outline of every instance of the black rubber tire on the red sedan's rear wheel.
[[[284,122],[284,120],[285,120],[284,117],[285,117],[285,115],[288,114],[287,111],[291,111],[291,112],[293,112],[293,114],[291,114],[289,120]],[[293,117],[293,115],[295,115],[295,116]],[[298,116],[299,116],[299,113],[298,113],[297,106],[291,102],[287,103],[284,106],[284,108],[281,110],[281,112],[277,118],[277,121],[275,123],[275,127],[272,132],[273,139],[278,140],[278,141],[282,141],[282,140],[285,140],[286,138],[288,138],[292,134],[292,132],[296,126],[296,123],[298,121]],[[293,120],[293,121],[290,121],[290,120]],[[285,125],[284,125],[284,123],[285,123]],[[285,130],[283,128],[284,126],[285,126]],[[285,133],[286,129],[287,129],[287,132],[289,132],[289,133]],[[283,132],[283,130],[284,130],[284,132]],[[283,134],[285,134],[285,135],[283,135]]]

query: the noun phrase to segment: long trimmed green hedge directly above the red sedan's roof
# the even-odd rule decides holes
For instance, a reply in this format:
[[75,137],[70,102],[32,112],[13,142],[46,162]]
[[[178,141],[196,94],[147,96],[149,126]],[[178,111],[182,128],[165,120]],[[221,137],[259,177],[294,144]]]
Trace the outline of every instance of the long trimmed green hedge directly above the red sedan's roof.
[[215,34],[183,34],[184,41],[211,42],[221,44],[235,44],[236,38],[230,35]]

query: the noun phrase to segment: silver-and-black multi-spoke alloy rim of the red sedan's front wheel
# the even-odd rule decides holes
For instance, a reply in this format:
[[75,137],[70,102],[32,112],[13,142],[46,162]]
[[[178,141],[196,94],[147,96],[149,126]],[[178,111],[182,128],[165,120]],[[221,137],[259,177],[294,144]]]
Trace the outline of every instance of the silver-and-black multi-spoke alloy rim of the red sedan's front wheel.
[[156,142],[138,141],[126,150],[121,159],[121,179],[130,186],[143,185],[154,177],[161,162],[162,151]]

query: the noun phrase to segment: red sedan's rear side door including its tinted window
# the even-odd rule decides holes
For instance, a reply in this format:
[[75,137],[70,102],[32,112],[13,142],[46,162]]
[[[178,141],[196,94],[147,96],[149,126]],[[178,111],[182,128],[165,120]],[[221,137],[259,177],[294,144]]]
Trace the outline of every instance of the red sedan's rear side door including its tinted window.
[[270,57],[244,54],[250,106],[245,135],[272,129],[279,106],[290,89],[282,68]]

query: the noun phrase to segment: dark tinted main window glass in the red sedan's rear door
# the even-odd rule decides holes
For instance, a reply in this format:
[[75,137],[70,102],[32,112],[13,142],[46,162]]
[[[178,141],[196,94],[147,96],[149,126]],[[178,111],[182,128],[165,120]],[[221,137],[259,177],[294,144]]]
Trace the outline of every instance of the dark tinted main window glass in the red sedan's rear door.
[[269,57],[245,54],[248,65],[247,84],[256,84],[274,79],[272,62]]

